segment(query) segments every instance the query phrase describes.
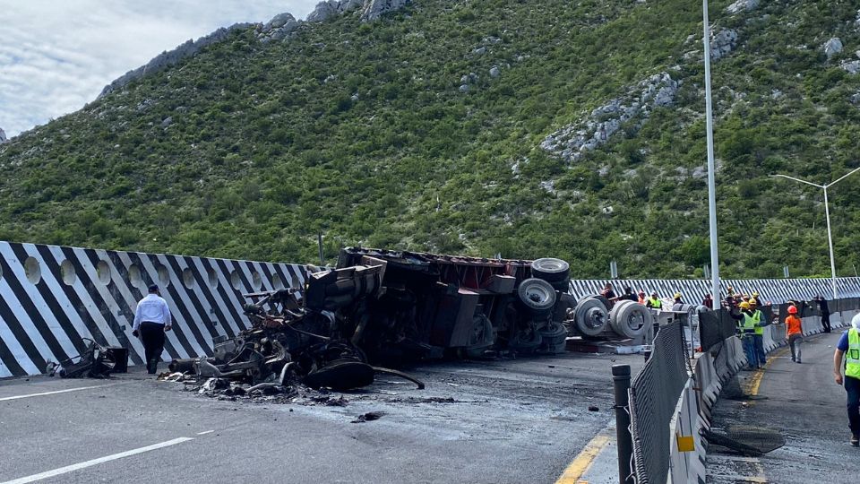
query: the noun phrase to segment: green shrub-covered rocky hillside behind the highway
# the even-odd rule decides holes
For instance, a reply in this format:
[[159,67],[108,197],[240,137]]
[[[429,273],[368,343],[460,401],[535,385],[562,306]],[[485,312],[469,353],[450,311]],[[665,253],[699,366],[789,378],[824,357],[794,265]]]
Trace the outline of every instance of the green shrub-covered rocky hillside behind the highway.
[[[860,74],[840,67],[857,6],[728,4],[710,13],[737,33],[713,65],[722,273],[828,274],[821,193],[767,175],[860,166]],[[660,73],[680,85],[647,119],[577,160],[541,147]],[[312,262],[322,230],[330,261],[363,245],[701,276],[702,73],[701,4],[679,0],[417,0],[283,42],[242,30],[0,147],[0,239]],[[854,275],[860,175],[830,201]]]

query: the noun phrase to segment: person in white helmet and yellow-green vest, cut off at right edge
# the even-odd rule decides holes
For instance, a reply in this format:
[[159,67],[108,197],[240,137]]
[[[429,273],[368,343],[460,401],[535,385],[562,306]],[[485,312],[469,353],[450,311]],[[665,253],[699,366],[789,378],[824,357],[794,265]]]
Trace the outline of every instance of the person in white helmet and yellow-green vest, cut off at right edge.
[[[860,446],[860,315],[851,319],[851,328],[842,333],[833,353],[833,376],[837,385],[845,385],[847,393],[848,428],[851,445]],[[842,377],[842,356],[845,355],[845,378]]]

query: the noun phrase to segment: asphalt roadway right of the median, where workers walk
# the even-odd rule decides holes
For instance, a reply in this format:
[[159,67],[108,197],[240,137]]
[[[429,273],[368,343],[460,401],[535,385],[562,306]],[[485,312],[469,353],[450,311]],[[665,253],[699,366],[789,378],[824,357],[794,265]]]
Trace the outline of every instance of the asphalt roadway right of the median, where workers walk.
[[741,457],[726,449],[712,449],[708,456],[708,482],[841,484],[856,481],[860,472],[860,449],[848,443],[851,434],[845,409],[846,393],[832,376],[833,351],[839,333],[807,337],[802,364],[791,361],[787,348],[775,351],[769,357],[771,360],[760,385],[755,385],[754,373],[741,374],[742,386],[751,394],[751,399],[720,399],[715,407],[713,426],[726,428],[739,424],[771,428],[786,437],[786,445],[756,458]]

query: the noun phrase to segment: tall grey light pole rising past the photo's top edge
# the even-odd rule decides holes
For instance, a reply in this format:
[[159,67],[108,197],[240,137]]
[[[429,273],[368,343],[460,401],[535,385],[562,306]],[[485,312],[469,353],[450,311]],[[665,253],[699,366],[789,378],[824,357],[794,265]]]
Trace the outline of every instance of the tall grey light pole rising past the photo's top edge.
[[710,290],[712,309],[719,307],[719,253],[717,250],[717,189],[714,181],[714,121],[710,98],[710,23],[708,0],[701,0],[705,48],[705,129],[708,138],[708,218],[710,229]]

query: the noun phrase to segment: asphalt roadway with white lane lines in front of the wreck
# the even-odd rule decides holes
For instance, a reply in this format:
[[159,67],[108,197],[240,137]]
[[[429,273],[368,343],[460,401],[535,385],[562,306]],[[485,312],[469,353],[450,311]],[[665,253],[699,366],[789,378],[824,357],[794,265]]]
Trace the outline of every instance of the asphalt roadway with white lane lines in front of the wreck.
[[[611,365],[641,361],[427,364],[409,369],[426,390],[379,376],[343,407],[219,401],[140,373],[5,380],[0,483],[555,482],[613,418]],[[384,414],[350,423],[367,411]]]

